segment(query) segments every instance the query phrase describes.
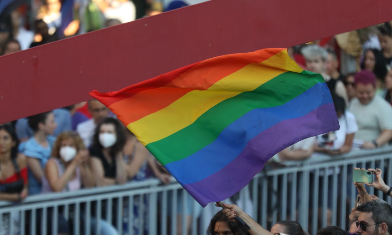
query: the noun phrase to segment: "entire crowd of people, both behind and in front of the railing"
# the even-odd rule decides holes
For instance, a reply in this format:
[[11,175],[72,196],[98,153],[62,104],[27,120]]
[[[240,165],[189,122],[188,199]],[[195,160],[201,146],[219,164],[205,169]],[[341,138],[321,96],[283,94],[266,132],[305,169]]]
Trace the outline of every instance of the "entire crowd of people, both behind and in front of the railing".
[[[159,1],[152,0],[74,0],[69,1],[74,4],[69,16],[69,12],[64,10],[69,9],[64,7],[67,1],[32,2],[34,7],[31,4],[21,5],[6,20],[0,21],[0,55],[187,5],[173,1],[163,9]],[[31,17],[33,8],[36,11]],[[29,19],[32,18],[31,22]],[[319,73],[325,79],[340,129],[299,141],[276,154],[270,162],[301,161],[316,152],[333,156],[353,149],[389,145],[392,140],[392,26],[387,22],[357,34],[351,32],[349,36],[359,37],[359,54],[350,51],[354,46],[339,36],[288,49],[301,67]],[[391,190],[382,180],[381,170],[371,171],[376,175],[376,181],[368,186],[390,194]],[[171,175],[162,165],[98,100],[0,125],[0,200],[20,202],[28,195],[124,184],[149,177],[156,177],[164,184],[171,181]],[[368,195],[362,184],[356,184],[356,187],[362,203],[350,215],[352,226],[349,233],[392,233],[392,208],[381,199]],[[178,201],[182,201],[181,197],[188,195],[179,194]],[[138,200],[133,210],[135,220],[143,214],[140,204],[145,203],[143,197]],[[294,221],[278,222],[269,232],[238,206],[225,206],[227,209],[218,212],[211,220],[207,234],[306,234]],[[178,211],[182,211],[180,204],[177,207]],[[53,213],[49,210],[48,218]],[[95,217],[96,211],[84,211],[82,220],[84,213],[93,215],[91,228],[98,223],[102,234],[117,234],[112,225],[115,221],[110,223]],[[187,213],[191,214],[191,209]],[[238,224],[236,216],[247,222],[251,229],[247,231]],[[57,217],[58,233],[69,234],[71,221],[67,221],[62,213],[58,213]],[[37,218],[40,222],[41,216]],[[189,217],[187,220],[189,231]],[[180,217],[178,221],[181,221]],[[143,226],[134,224],[134,228],[127,230],[133,230],[135,234],[145,230]],[[180,222],[178,226],[181,226]],[[6,226],[1,229],[7,231]],[[39,229],[38,226],[38,232]],[[327,227],[318,232],[320,235],[331,233],[347,234],[337,227]]]

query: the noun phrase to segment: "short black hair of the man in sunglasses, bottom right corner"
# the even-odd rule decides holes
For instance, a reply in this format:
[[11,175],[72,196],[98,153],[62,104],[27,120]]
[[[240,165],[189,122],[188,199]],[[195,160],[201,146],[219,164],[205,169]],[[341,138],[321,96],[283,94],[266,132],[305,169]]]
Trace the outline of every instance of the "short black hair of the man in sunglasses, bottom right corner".
[[372,219],[376,223],[376,229],[380,223],[388,226],[388,233],[392,233],[392,207],[381,199],[366,202],[357,207],[359,212],[372,212]]

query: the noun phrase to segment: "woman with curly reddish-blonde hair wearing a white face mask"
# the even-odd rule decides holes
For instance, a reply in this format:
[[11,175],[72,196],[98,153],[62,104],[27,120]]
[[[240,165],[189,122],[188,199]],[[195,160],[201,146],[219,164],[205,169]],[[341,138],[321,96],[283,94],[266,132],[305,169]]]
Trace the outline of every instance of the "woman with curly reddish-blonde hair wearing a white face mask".
[[[54,143],[52,158],[45,166],[45,174],[42,177],[42,193],[92,188],[94,179],[89,160],[89,151],[86,150],[82,138],[76,132],[60,134]],[[90,213],[90,211],[81,211],[80,218],[82,221],[84,221],[85,213]],[[72,210],[70,211],[71,215],[73,215]],[[58,214],[58,218],[59,226],[72,228],[73,219],[69,219],[68,222],[65,221],[62,213]],[[49,222],[51,222],[50,217]],[[91,231],[95,231],[96,223],[97,219],[91,217]],[[84,226],[84,222],[81,225]],[[81,227],[79,230],[83,231],[83,228]],[[117,234],[116,229],[103,220],[100,220],[100,231],[101,234]]]

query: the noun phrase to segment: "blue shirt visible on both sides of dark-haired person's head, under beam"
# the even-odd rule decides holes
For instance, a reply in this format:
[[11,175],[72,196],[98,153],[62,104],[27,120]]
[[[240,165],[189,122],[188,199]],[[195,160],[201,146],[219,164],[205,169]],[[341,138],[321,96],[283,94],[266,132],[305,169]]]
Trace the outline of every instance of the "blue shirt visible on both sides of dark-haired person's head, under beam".
[[[71,131],[72,130],[72,123],[71,123],[71,114],[68,110],[63,108],[53,110],[54,114],[54,121],[57,123],[57,127],[54,130],[53,135],[58,136],[60,133],[64,131]],[[16,129],[16,136],[18,139],[28,139],[33,137],[34,132],[29,126],[27,118],[22,118],[16,121],[15,125]]]

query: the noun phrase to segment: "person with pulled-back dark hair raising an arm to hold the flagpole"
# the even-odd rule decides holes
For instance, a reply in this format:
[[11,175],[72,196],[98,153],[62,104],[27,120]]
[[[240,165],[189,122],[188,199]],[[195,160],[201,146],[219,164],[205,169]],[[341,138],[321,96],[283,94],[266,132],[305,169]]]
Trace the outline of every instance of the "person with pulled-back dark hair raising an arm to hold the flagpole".
[[[226,209],[221,210],[230,222],[235,222],[235,218],[239,216],[248,226],[251,235],[307,235],[301,225],[295,221],[279,221],[272,226],[271,231],[267,231],[261,227],[258,222],[254,221],[247,213],[234,204],[223,204]],[[216,206],[220,207],[218,204]],[[212,220],[211,220],[212,221]],[[211,226],[211,224],[210,224]],[[208,230],[207,230],[208,231]],[[207,232],[207,234],[209,234]],[[233,233],[234,234],[234,233]]]

